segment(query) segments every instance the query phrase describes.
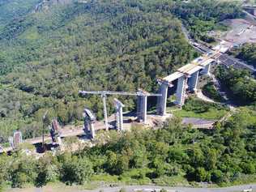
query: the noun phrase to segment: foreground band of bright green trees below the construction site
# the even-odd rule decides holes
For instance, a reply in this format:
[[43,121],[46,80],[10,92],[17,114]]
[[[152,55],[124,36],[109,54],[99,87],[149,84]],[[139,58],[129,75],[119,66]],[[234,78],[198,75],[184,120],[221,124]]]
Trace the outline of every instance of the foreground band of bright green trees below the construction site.
[[244,109],[215,130],[181,126],[173,118],[163,129],[114,130],[108,143],[75,154],[68,152],[36,160],[19,151],[1,156],[0,184],[42,186],[50,181],[84,184],[89,181],[158,185],[212,181],[219,185],[256,179],[255,111]]

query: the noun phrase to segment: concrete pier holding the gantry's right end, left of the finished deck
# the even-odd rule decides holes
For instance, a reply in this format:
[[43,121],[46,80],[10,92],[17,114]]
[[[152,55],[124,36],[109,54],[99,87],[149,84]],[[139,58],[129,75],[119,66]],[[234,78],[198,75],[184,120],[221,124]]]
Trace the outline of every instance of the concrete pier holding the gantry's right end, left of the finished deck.
[[138,96],[137,102],[138,120],[147,123],[147,96]]

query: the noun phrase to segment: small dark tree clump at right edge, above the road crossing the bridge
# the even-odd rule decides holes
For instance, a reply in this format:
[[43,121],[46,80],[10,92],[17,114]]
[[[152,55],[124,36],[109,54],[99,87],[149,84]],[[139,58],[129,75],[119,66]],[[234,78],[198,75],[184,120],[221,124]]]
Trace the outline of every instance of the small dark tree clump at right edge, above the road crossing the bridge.
[[242,45],[240,48],[234,49],[231,53],[233,53],[236,58],[240,58],[256,67],[256,44]]

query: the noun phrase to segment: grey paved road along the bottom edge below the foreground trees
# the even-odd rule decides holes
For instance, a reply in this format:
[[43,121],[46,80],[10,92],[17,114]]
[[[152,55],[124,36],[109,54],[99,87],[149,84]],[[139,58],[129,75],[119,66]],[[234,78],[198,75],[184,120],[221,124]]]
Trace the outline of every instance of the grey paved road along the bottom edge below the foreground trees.
[[[252,187],[252,188],[251,188]],[[160,191],[160,189],[168,190],[169,192],[237,192],[252,189],[252,191],[256,191],[256,184],[252,185],[243,185],[243,186],[231,186],[224,188],[190,188],[190,187],[166,187],[166,186],[121,186],[121,187],[109,187],[109,188],[101,188],[97,190],[84,190],[84,192],[99,192],[103,190],[104,192],[116,192],[125,188],[127,192],[132,191]]]

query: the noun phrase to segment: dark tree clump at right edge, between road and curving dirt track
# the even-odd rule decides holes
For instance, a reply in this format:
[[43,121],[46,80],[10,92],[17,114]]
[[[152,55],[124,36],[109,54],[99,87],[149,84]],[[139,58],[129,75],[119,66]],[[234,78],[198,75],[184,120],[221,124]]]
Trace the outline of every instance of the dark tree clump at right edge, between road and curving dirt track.
[[247,70],[219,67],[217,77],[228,89],[229,96],[241,105],[252,105],[256,101],[256,81]]

